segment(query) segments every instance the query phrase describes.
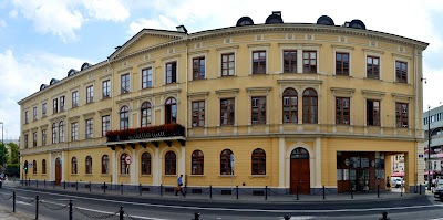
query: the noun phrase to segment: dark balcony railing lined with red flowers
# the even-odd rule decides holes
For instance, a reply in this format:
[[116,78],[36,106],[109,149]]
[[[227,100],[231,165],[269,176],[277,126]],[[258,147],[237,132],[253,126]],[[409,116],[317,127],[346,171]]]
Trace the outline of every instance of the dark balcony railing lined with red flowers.
[[130,128],[106,132],[107,143],[126,142],[134,139],[152,139],[162,137],[185,136],[185,128],[179,124],[164,124],[158,126]]

